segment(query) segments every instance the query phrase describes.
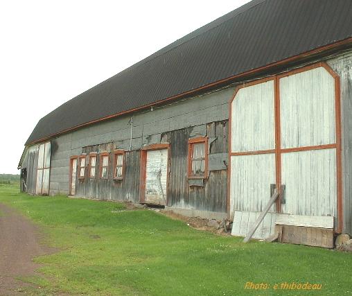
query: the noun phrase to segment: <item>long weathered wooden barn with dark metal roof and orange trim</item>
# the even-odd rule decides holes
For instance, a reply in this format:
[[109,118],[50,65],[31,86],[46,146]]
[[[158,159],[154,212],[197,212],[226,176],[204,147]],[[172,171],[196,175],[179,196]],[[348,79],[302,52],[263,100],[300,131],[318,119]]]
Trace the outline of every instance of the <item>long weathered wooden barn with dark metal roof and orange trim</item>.
[[[352,1],[254,0],[44,116],[21,189],[352,234]],[[322,240],[327,240],[324,243]]]

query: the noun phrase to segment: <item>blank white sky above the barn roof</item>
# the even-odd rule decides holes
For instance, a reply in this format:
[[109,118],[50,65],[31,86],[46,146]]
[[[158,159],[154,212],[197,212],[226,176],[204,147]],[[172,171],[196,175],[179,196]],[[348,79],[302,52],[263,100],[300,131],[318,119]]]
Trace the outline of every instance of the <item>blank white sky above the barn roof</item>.
[[0,173],[37,121],[248,0],[0,2]]

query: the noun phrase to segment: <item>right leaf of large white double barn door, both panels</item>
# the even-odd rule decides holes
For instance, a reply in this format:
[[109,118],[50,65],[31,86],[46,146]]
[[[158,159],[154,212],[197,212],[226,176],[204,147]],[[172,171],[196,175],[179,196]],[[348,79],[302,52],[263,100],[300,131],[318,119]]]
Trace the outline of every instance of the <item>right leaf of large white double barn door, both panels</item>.
[[337,217],[335,79],[317,67],[279,85],[282,212]]

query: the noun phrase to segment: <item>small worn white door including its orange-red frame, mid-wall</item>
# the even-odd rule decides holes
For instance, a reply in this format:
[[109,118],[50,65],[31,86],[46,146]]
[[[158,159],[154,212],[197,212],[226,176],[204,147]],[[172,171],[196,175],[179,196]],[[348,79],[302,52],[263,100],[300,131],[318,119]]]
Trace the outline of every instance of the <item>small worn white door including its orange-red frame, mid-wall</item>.
[[165,205],[168,189],[168,144],[141,151],[141,202]]

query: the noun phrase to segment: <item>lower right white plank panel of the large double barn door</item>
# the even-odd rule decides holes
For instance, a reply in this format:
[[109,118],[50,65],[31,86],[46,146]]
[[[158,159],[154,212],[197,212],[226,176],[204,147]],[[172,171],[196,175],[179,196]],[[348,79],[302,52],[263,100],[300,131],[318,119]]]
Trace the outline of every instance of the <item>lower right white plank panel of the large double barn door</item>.
[[282,155],[285,214],[336,217],[336,150],[309,150]]

